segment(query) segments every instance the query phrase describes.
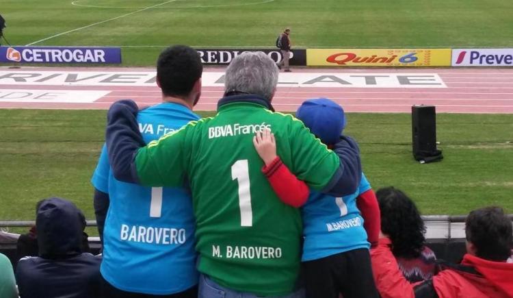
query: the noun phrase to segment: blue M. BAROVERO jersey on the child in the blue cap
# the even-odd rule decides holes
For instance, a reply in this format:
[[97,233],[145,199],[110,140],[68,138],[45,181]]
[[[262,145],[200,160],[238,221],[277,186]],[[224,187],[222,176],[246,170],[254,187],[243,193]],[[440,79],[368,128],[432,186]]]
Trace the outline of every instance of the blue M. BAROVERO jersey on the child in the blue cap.
[[363,218],[356,207],[356,198],[371,189],[362,173],[356,193],[335,198],[310,190],[302,208],[302,261],[317,260],[353,249],[369,248]]

